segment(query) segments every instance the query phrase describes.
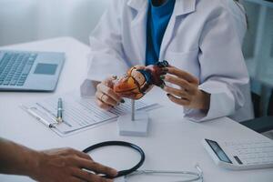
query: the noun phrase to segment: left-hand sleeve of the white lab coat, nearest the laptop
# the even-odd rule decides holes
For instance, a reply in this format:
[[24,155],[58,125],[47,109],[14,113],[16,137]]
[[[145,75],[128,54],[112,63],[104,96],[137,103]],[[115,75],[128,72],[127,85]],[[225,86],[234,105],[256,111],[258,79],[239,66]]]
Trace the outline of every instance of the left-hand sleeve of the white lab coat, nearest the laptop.
[[91,54],[87,79],[102,81],[108,76],[126,73],[128,66],[121,34],[122,4],[123,0],[112,1],[90,35]]

